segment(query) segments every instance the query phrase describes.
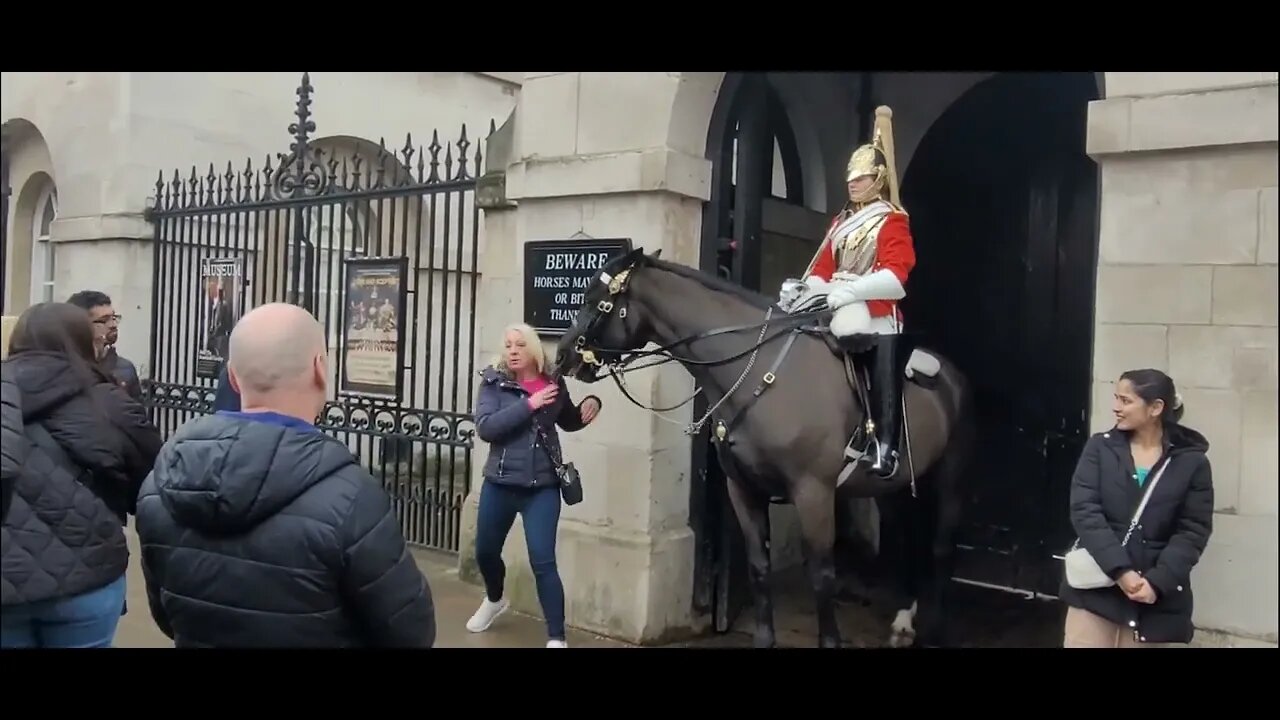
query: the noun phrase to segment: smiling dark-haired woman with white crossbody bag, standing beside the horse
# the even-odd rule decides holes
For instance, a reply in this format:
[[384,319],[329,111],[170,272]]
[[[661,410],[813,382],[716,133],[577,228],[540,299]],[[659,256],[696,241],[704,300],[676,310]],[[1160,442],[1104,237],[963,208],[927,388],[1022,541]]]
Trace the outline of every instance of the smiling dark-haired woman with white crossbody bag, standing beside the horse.
[[1120,375],[1112,413],[1115,427],[1089,438],[1071,479],[1071,525],[1114,584],[1082,589],[1064,580],[1062,644],[1188,643],[1192,569],[1213,528],[1208,442],[1179,423],[1181,396],[1160,370]]

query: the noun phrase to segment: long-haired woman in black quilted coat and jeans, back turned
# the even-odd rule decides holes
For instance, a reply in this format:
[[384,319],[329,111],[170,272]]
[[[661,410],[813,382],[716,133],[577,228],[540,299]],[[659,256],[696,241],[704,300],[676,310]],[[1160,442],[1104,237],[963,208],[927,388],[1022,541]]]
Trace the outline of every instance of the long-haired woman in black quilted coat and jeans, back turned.
[[160,433],[97,366],[88,314],[74,305],[18,318],[4,380],[22,409],[4,415],[5,442],[27,447],[0,524],[0,646],[110,647],[129,561],[123,523]]

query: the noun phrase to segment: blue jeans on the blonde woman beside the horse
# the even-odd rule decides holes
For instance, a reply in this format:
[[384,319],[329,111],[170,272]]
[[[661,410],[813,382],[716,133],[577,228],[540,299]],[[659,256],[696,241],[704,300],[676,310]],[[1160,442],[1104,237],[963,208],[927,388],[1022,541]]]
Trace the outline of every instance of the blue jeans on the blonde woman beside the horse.
[[476,565],[489,600],[502,600],[507,566],[502,546],[518,512],[525,524],[529,564],[538,584],[538,602],[547,618],[547,635],[564,639],[564,585],[556,568],[556,527],[559,524],[559,487],[521,488],[486,482],[480,488],[476,518]]

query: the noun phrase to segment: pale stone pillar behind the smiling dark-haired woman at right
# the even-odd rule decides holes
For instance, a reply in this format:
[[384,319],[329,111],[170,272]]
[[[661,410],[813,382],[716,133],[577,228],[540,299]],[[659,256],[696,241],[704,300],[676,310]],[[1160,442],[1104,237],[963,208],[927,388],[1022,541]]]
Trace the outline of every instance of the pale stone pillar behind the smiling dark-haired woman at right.
[[[1094,430],[1121,372],[1178,383],[1217,514],[1196,624],[1276,642],[1276,73],[1107,73]],[[1230,592],[1225,588],[1242,588]]]

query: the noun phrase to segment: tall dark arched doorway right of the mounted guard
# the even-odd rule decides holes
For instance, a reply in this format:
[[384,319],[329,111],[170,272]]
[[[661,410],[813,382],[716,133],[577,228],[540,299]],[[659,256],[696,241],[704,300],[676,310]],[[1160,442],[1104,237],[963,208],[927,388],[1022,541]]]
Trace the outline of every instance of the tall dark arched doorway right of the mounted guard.
[[1056,594],[1088,437],[1098,170],[1094,73],[1001,73],[961,96],[902,178],[908,324],[969,375],[980,415],[957,575]]

